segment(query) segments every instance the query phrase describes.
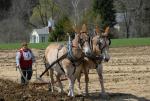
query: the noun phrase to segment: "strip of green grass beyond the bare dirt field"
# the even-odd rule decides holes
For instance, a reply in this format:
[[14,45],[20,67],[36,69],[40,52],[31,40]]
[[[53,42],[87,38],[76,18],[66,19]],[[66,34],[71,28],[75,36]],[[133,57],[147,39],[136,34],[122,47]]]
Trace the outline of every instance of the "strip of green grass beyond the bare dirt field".
[[[61,42],[66,44],[66,42]],[[51,43],[32,43],[30,48],[45,49]],[[111,39],[110,47],[145,46],[150,45],[150,38]],[[20,43],[0,44],[0,49],[19,49]]]

